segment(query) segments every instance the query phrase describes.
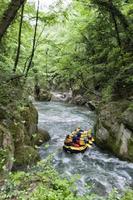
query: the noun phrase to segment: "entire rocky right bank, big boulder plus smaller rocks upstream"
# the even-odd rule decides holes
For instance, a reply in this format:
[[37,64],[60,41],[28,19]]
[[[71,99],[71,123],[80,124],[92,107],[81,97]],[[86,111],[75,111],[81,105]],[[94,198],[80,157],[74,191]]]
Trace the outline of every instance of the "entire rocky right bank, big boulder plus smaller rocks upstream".
[[[75,92],[74,92],[75,94]],[[76,94],[73,103],[96,110],[95,139],[97,145],[117,157],[133,162],[132,98],[104,102],[98,93]]]

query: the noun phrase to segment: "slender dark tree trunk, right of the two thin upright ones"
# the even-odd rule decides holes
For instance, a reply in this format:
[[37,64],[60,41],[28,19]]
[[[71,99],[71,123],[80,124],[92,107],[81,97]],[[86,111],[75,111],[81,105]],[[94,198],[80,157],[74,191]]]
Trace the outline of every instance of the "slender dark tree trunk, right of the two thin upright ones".
[[28,72],[29,72],[29,70],[30,70],[30,68],[31,68],[32,60],[33,60],[34,53],[35,53],[36,35],[37,35],[37,27],[38,27],[38,19],[39,19],[39,4],[40,4],[40,0],[38,0],[38,7],[37,7],[37,12],[36,12],[36,24],[35,24],[35,31],[34,31],[32,52],[31,52],[31,56],[30,56],[30,59],[29,59],[29,63],[28,63],[27,69],[26,69],[25,77],[28,76]]

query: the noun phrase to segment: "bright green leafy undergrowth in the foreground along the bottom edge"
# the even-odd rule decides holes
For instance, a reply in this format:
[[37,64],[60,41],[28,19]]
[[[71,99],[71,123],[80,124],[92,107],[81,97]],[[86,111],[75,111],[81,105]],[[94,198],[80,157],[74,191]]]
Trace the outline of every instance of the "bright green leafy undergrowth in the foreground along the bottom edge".
[[[75,192],[74,192],[75,191]],[[80,200],[76,195],[74,180],[60,178],[50,167],[50,162],[41,161],[29,172],[10,173],[5,185],[0,190],[1,199],[38,199],[38,200]],[[96,196],[89,194],[83,200],[94,200]]]

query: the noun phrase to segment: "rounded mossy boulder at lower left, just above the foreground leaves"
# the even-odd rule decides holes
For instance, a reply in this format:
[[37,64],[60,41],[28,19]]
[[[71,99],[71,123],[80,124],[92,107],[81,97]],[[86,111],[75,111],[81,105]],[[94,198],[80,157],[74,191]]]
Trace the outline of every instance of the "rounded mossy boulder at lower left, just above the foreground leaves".
[[38,152],[31,146],[23,145],[15,149],[14,168],[32,165],[40,159]]

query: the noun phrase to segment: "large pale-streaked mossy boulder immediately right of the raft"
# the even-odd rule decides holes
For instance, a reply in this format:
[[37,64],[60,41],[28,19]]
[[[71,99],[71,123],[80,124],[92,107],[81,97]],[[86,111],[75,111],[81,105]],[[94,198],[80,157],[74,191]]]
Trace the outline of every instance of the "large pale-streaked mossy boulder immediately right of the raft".
[[128,102],[101,106],[96,126],[96,143],[122,159],[133,161],[133,111]]

